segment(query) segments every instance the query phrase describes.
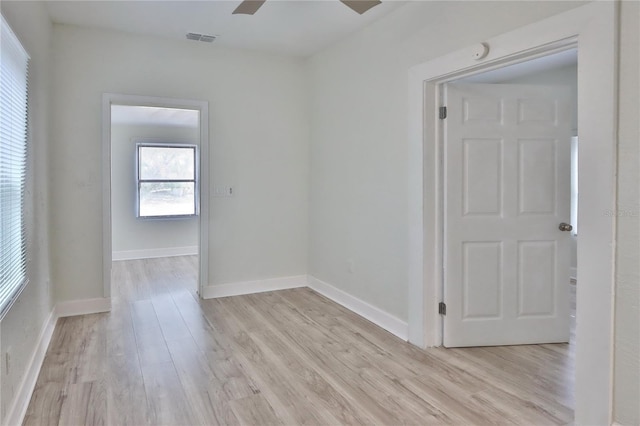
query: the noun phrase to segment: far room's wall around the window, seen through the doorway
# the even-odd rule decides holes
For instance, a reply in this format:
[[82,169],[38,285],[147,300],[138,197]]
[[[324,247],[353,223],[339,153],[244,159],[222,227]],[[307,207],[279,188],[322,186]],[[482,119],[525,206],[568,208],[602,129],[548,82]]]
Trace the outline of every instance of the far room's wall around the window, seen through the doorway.
[[[143,124],[111,125],[111,227],[114,259],[161,249],[196,247],[198,219],[136,217],[136,143],[199,144],[198,127]],[[135,252],[135,253],[131,253]]]

